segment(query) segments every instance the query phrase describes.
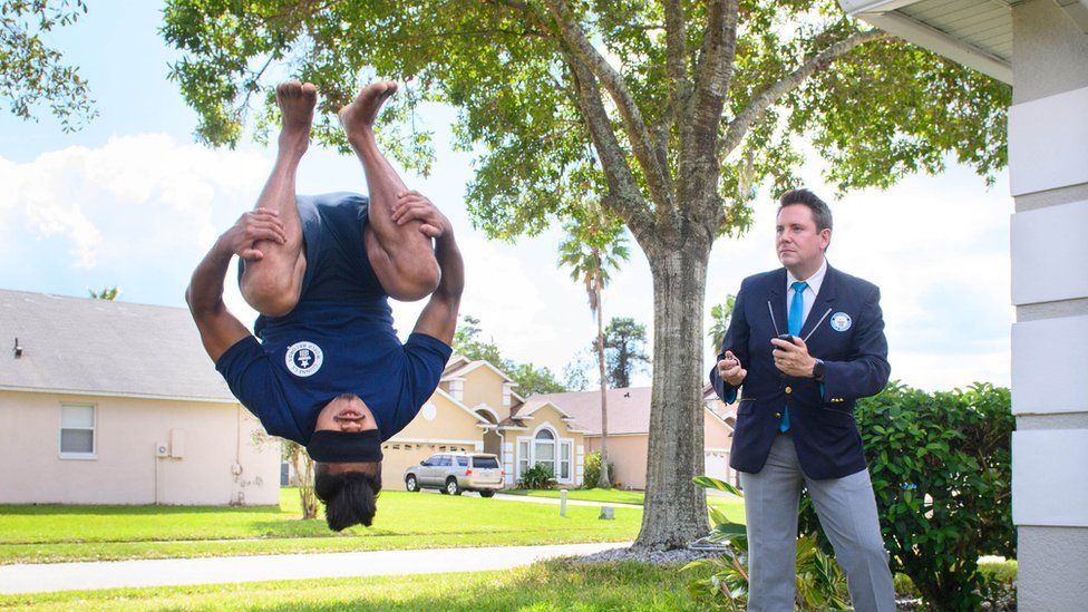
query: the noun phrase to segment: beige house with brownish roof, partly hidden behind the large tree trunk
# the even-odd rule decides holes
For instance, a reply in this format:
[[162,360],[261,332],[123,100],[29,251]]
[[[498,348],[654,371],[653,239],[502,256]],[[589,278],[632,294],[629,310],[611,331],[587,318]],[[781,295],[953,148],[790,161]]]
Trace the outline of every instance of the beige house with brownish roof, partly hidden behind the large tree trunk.
[[[705,474],[730,483],[737,480],[729,467],[735,409],[719,400],[713,390],[703,390]],[[586,451],[601,449],[601,391],[533,396],[527,404],[546,402],[562,407],[565,415],[585,426]],[[609,463],[615,467],[613,482],[623,488],[645,488],[650,456],[650,388],[609,389]]]

